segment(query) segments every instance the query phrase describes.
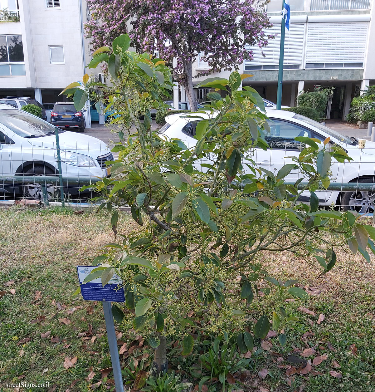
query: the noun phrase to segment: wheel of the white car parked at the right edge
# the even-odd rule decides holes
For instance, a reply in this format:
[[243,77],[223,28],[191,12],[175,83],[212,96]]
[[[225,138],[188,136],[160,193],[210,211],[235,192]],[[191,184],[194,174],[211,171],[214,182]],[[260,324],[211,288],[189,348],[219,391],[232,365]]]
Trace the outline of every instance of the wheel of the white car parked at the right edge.
[[[359,178],[358,183],[361,182],[373,182],[373,178]],[[353,181],[355,185],[356,181]],[[357,211],[360,214],[373,214],[375,202],[375,192],[365,191],[351,191],[342,192],[341,196],[341,208],[344,211]]]

